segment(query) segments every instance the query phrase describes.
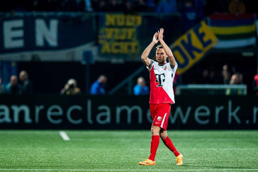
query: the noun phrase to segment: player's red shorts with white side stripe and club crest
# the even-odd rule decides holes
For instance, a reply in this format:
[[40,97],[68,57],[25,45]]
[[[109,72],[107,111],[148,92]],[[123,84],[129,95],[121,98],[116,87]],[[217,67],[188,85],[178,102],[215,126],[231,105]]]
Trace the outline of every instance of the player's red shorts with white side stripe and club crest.
[[150,115],[153,120],[152,125],[167,130],[170,109],[170,103],[150,104]]

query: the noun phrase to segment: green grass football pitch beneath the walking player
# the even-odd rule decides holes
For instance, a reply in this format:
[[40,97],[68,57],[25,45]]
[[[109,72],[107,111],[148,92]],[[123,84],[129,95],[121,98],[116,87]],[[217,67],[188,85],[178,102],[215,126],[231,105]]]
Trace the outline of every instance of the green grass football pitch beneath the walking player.
[[[256,171],[258,131],[170,130],[168,135],[184,156],[160,140],[155,166],[141,166],[150,151],[147,130],[0,130],[0,171]],[[24,170],[25,169],[25,170]]]

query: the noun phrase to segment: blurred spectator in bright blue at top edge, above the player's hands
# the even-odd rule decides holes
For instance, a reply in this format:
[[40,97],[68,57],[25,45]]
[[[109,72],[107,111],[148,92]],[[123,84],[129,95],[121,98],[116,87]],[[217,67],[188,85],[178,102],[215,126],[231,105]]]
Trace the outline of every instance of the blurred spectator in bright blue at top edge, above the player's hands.
[[173,14],[177,12],[177,2],[176,0],[163,0],[159,3],[157,7],[158,13],[168,13]]

